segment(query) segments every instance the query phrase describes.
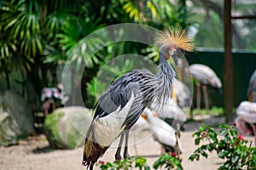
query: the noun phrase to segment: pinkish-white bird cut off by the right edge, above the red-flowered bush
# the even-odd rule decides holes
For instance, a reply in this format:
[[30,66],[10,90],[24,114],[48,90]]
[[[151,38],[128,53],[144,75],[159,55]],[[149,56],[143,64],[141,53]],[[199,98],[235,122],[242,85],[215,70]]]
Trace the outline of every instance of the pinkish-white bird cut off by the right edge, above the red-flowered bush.
[[236,124],[240,133],[254,134],[256,145],[256,103],[243,101],[236,109]]

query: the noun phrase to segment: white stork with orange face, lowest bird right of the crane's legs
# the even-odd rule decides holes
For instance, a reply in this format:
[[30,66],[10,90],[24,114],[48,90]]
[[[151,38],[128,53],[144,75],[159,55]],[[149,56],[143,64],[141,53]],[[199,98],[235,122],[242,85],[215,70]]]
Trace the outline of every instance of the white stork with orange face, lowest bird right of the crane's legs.
[[175,152],[176,155],[180,156],[182,147],[174,128],[161,120],[157,114],[148,108],[143,111],[142,116],[149,122],[150,131],[153,133],[154,139],[162,145],[164,151],[166,153]]

